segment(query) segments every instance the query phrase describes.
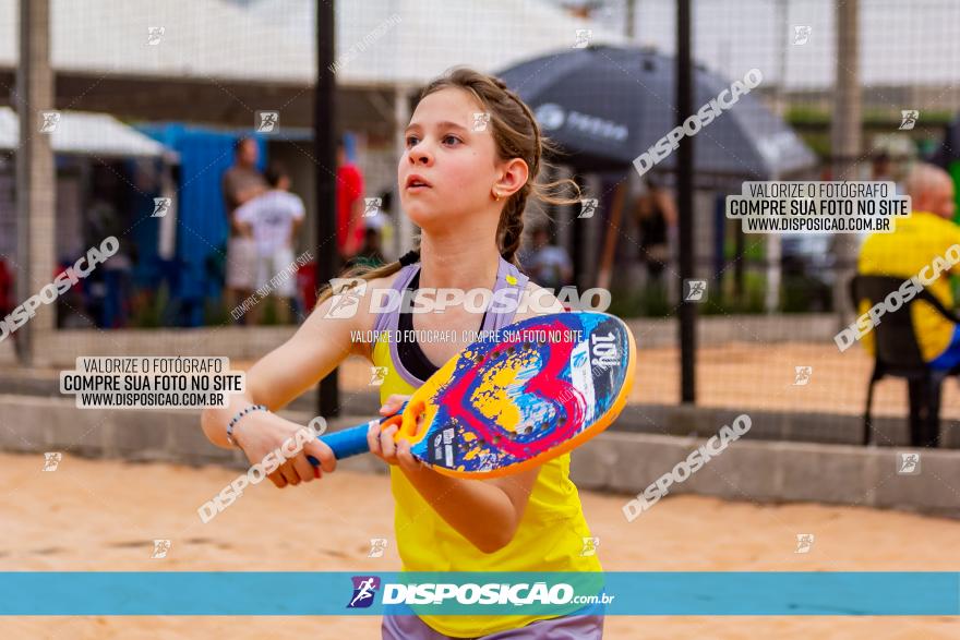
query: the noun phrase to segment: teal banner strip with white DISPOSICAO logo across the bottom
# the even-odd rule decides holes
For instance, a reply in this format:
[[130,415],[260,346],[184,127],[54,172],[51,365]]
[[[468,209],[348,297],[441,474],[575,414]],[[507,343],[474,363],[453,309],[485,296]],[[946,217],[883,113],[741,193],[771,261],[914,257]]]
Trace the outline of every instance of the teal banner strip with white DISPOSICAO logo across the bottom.
[[384,613],[957,616],[960,572],[0,572],[4,616]]

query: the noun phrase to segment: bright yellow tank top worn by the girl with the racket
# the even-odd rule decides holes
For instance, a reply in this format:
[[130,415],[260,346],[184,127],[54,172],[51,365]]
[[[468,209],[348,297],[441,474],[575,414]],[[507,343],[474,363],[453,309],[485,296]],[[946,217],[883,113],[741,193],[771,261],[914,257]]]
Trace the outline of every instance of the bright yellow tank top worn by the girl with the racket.
[[[418,266],[418,265],[411,265]],[[511,265],[512,266],[512,265]],[[513,281],[513,280],[508,280]],[[396,326],[389,327],[395,329]],[[389,331],[374,345],[375,366],[386,367],[380,387],[381,402],[392,394],[410,395],[396,350],[391,349]],[[422,382],[422,381],[421,381]],[[569,479],[569,454],[544,463],[514,539],[502,550],[487,554],[446,523],[407,481],[404,472],[391,467],[391,491],[396,502],[394,526],[404,571],[601,571],[600,560],[584,518],[577,487]],[[585,552],[585,550],[587,550]],[[441,633],[455,638],[476,637],[523,627],[556,616],[421,616]]]

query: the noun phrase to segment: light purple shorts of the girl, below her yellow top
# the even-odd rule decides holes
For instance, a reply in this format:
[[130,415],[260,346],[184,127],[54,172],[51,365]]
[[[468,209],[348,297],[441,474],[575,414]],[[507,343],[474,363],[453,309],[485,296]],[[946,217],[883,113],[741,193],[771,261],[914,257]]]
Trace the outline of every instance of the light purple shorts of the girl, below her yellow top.
[[[433,630],[416,615],[383,616],[383,640],[457,640]],[[600,640],[603,616],[562,616],[536,620],[526,627],[480,636],[473,640]]]

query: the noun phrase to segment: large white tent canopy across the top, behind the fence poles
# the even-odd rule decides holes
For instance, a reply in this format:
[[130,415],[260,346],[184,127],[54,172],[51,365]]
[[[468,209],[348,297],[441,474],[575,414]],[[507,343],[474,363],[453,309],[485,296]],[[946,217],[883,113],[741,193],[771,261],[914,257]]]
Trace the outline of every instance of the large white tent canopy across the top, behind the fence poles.
[[[314,0],[50,0],[53,69],[194,80],[302,83],[316,77]],[[0,67],[16,64],[17,0],[0,0]],[[345,86],[420,85],[455,64],[493,72],[554,49],[577,29],[620,34],[542,0],[336,2]],[[163,27],[156,45],[151,27]]]

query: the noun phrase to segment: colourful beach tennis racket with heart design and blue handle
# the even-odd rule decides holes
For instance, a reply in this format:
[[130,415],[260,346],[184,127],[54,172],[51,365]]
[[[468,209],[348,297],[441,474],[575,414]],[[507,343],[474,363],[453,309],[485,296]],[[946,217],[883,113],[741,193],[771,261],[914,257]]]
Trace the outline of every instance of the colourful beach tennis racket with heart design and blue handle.
[[[453,357],[400,410],[381,418],[440,473],[495,478],[561,456],[607,428],[633,385],[636,346],[597,312],[531,317]],[[371,421],[374,422],[374,421]],[[370,450],[371,422],[321,436],[338,458]],[[311,464],[319,461],[308,456]]]

